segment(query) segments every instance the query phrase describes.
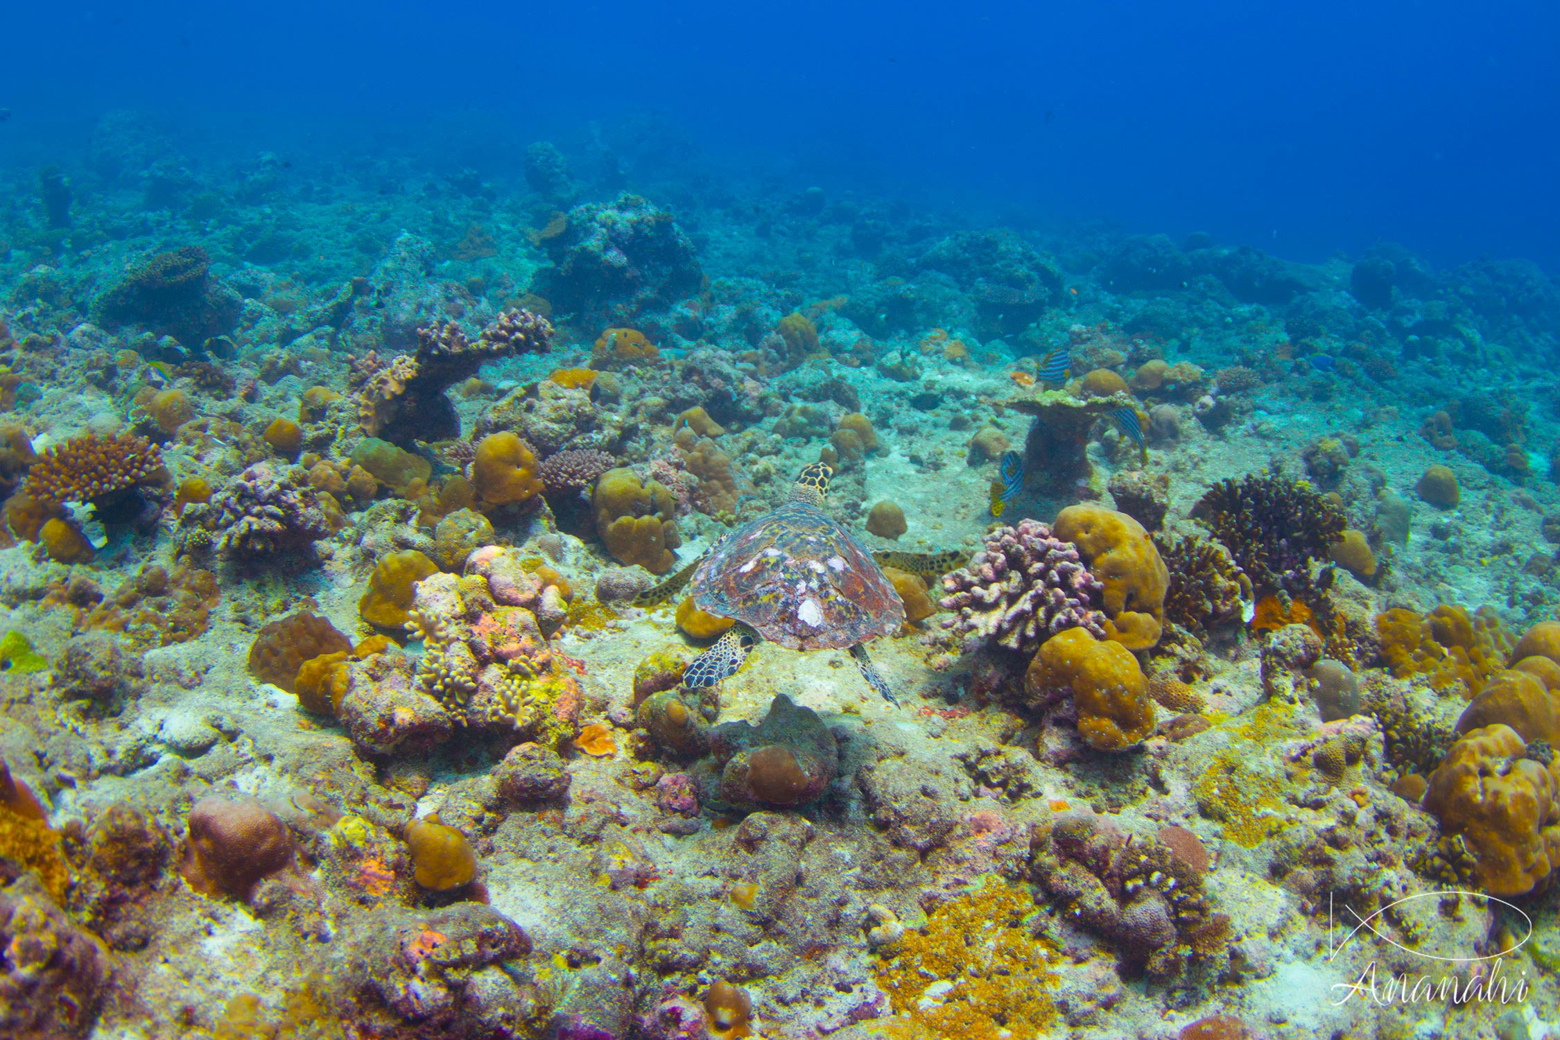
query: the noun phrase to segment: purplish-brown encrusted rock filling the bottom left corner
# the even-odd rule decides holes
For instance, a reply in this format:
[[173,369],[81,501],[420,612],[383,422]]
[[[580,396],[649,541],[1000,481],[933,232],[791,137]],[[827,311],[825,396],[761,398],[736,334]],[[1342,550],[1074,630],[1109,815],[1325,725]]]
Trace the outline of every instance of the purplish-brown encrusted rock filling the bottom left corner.
[[0,887],[0,1035],[84,1037],[112,975],[108,951],[33,875]]

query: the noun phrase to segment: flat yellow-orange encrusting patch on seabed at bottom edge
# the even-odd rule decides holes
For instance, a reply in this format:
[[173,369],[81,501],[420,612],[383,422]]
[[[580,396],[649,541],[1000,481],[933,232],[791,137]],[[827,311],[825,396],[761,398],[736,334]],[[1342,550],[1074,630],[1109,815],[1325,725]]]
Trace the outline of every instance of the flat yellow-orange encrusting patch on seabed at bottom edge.
[[944,1040],[1045,1035],[1059,953],[1031,934],[1034,912],[1023,887],[989,881],[885,946],[875,981],[900,1018]]

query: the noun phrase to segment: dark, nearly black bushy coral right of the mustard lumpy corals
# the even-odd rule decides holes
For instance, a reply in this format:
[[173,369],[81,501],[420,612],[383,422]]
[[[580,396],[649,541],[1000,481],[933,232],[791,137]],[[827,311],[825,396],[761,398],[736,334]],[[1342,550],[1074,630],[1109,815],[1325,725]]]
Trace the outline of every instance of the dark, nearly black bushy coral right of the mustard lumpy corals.
[[1310,564],[1328,560],[1345,519],[1310,485],[1282,474],[1221,480],[1192,516],[1229,549],[1259,594],[1284,593],[1314,607],[1321,600],[1328,578],[1312,578]]

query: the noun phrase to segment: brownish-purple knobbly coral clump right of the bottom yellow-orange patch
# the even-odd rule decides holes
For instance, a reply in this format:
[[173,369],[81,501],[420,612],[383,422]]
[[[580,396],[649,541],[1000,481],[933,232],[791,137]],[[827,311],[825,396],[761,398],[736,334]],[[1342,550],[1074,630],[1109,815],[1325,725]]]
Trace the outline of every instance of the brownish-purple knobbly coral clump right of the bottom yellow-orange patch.
[[1228,945],[1229,918],[1203,890],[1206,856],[1189,831],[1142,840],[1070,814],[1036,830],[1030,876],[1070,920],[1115,943],[1125,965],[1165,979]]

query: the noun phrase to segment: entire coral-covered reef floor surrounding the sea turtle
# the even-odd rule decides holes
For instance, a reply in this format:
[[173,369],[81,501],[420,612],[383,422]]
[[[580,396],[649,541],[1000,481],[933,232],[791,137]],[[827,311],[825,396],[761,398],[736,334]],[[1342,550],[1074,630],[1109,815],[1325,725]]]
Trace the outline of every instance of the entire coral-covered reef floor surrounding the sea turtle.
[[1423,1032],[1293,1006],[1384,907],[1552,1012],[1555,430],[1415,374],[1552,282],[123,147],[0,217],[0,1034]]

